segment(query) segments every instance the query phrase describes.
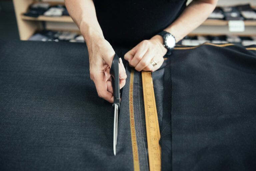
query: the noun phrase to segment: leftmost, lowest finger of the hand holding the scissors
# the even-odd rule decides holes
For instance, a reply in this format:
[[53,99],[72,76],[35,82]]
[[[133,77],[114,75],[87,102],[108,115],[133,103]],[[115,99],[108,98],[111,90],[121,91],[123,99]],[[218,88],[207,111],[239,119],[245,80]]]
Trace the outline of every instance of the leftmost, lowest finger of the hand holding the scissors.
[[96,86],[98,96],[113,103],[113,94],[107,91],[107,83],[105,81],[105,73],[103,71],[96,71],[93,73],[93,81]]

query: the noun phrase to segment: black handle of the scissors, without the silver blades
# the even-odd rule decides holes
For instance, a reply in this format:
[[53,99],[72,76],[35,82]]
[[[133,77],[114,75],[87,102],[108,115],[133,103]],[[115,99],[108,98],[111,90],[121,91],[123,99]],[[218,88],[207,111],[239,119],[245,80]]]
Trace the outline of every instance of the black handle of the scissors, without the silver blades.
[[120,109],[120,87],[119,87],[119,57],[115,54],[112,65],[110,68],[110,75],[112,76],[112,87],[113,87],[113,96],[114,96],[114,103],[117,104],[118,108]]

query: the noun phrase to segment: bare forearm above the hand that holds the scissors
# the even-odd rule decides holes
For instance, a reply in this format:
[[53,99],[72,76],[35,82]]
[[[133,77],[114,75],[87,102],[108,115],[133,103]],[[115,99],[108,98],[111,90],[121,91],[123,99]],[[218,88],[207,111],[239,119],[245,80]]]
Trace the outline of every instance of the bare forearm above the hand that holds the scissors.
[[103,37],[92,0],[65,0],[65,5],[87,44]]

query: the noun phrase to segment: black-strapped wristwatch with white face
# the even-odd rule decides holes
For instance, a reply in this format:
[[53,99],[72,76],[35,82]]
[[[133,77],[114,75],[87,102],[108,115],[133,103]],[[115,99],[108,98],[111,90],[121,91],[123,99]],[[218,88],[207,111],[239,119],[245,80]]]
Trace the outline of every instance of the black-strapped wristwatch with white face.
[[164,44],[163,45],[167,49],[166,55],[170,55],[172,53],[171,51],[173,50],[173,48],[176,45],[175,37],[167,31],[161,31],[157,35],[160,35],[160,36],[163,37],[163,39],[164,39]]

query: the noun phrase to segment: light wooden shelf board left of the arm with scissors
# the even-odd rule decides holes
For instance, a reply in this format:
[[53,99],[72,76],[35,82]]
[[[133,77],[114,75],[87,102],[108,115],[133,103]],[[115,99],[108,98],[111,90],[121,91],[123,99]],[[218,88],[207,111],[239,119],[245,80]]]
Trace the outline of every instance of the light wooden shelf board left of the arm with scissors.
[[29,17],[25,15],[21,15],[23,20],[30,20],[30,21],[52,21],[52,22],[66,22],[66,23],[73,23],[73,20],[70,16],[61,16],[61,17],[47,17],[40,15],[39,17]]

